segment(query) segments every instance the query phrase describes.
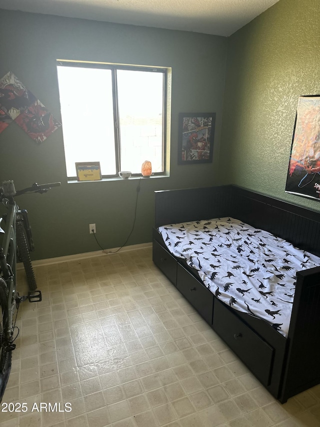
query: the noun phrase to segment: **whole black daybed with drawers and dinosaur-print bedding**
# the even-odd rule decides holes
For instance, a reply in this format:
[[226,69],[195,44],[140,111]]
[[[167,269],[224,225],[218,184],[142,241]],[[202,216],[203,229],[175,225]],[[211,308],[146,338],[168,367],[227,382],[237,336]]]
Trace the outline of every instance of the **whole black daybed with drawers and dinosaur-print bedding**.
[[[214,227],[221,229],[224,240],[214,240],[217,229],[212,232],[207,228],[212,223],[213,231]],[[180,239],[172,240],[170,236],[174,224],[180,231],[173,231],[173,234]],[[182,225],[191,227],[191,239],[190,235],[183,235]],[[196,227],[206,233],[206,239],[195,231]],[[233,240],[236,240],[240,238],[236,233],[241,228],[246,230],[246,237],[239,240],[239,247],[235,246],[232,252],[229,232],[234,233]],[[269,233],[275,245],[284,250],[283,257],[282,253],[268,252],[270,249],[264,238]],[[233,185],[155,192],[153,262],[281,403],[320,382],[319,233],[320,213]],[[192,244],[182,245],[183,239],[189,243],[195,242],[197,237],[199,248],[203,249],[195,250]],[[294,250],[303,251],[297,264],[291,264],[292,255],[286,246],[283,247],[283,241]],[[178,242],[175,247],[174,242]],[[192,247],[192,251],[183,253],[188,247]],[[228,266],[222,257],[222,248],[229,250],[223,255],[231,262]],[[251,259],[248,267],[239,262],[247,256],[245,250],[249,251]],[[192,253],[191,259],[185,256],[188,252]],[[217,262],[209,260],[208,253],[213,254]],[[213,275],[201,272],[199,266],[203,267],[206,262],[213,265],[213,271],[210,270]],[[249,268],[250,263],[252,268]],[[262,264],[265,270],[256,278],[255,270],[261,270]],[[241,268],[232,269],[235,266]],[[226,274],[216,274],[220,270]],[[274,298],[279,297],[278,294],[263,295],[272,292],[267,290],[267,286],[272,285],[269,283],[271,272],[276,277],[273,285],[282,292],[280,300],[284,299],[283,303],[289,308],[283,308],[282,302]],[[217,284],[218,276],[223,281]],[[259,294],[252,293],[253,278],[261,282],[261,287],[257,288]],[[222,298],[221,293],[230,289],[235,292],[233,298],[237,303]],[[236,305],[241,305],[238,301],[242,301],[242,311],[238,307],[235,309]],[[271,307],[265,308],[264,304],[270,301]],[[266,318],[261,318],[258,306]],[[284,315],[286,309],[288,317]]]

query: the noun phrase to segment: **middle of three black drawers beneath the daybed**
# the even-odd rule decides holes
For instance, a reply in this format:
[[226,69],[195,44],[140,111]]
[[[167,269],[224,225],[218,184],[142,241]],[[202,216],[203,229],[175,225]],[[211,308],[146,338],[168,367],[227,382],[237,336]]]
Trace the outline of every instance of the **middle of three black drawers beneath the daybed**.
[[176,286],[204,320],[212,325],[213,294],[180,264],[177,265]]

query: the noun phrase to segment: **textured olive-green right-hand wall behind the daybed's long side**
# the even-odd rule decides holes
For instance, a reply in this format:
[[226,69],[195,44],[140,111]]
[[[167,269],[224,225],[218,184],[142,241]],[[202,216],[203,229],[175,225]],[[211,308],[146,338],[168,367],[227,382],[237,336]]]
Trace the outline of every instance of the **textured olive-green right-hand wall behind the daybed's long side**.
[[320,2],[280,0],[228,39],[220,182],[284,192],[299,95],[320,94]]

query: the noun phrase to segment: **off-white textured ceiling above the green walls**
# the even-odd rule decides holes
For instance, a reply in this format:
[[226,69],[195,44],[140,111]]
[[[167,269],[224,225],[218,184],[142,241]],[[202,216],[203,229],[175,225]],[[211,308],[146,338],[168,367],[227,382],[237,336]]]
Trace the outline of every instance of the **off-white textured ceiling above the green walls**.
[[278,0],[0,0],[0,9],[230,36]]

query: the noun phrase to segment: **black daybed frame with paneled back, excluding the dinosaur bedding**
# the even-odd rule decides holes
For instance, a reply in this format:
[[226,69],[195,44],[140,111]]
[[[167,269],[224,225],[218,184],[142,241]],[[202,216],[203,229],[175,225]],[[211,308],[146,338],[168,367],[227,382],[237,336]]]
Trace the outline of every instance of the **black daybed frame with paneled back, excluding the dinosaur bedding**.
[[[165,251],[165,244],[156,228],[165,224],[224,216],[240,219],[320,256],[319,212],[234,185],[156,191],[153,261],[182,293],[183,286],[192,290],[192,283],[199,286],[201,281],[196,272],[180,259],[172,257],[174,261],[170,258],[170,268],[162,267],[163,260],[170,255],[167,254],[167,258],[164,258],[162,252],[159,253],[159,250]],[[248,368],[253,373],[257,372],[258,379],[267,378],[261,382],[282,403],[320,383],[320,266],[295,273],[296,289],[287,338],[263,320],[227,306],[222,307],[215,297],[211,317],[207,315],[208,307],[205,307],[207,298],[203,299],[203,312],[201,303],[197,302],[196,306],[198,312]],[[189,301],[192,304],[192,300]],[[263,371],[263,366],[258,365],[258,360],[247,359],[245,356],[246,353],[254,353],[254,348],[249,348],[250,345],[255,345],[254,340],[252,344],[250,340],[245,341],[246,347],[243,348],[242,344],[241,348],[238,342],[233,342],[232,336],[230,338],[230,335],[224,333],[224,325],[228,325],[229,320],[230,328],[235,327],[234,325],[238,328],[243,324],[243,328],[247,328],[254,339],[262,340],[271,348],[270,366],[265,368],[268,369],[267,372]]]

